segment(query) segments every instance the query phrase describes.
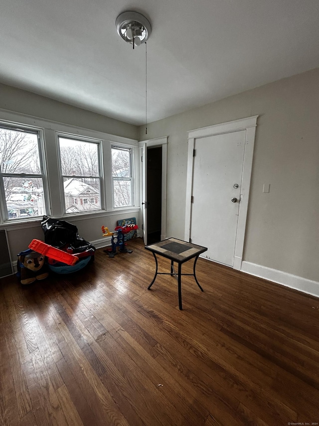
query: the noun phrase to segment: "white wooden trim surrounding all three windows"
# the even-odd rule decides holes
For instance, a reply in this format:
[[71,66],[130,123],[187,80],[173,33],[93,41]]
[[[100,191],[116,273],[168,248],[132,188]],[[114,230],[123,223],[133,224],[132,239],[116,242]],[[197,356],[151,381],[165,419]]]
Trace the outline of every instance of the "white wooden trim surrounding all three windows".
[[[67,125],[56,121],[45,120],[38,117],[29,116],[26,114],[20,114],[12,111],[0,109],[0,121],[5,125],[20,125],[28,128],[35,128],[43,132],[43,157],[44,166],[47,176],[47,214],[52,217],[63,218],[65,220],[83,220],[85,218],[99,218],[111,216],[116,213],[127,213],[136,215],[140,211],[140,197],[138,193],[139,188],[139,175],[138,170],[135,169],[135,164],[138,164],[138,141],[136,139],[126,138],[118,135],[112,135],[110,133],[104,133],[96,130],[90,130],[87,128],[76,127],[73,125]],[[59,177],[59,165],[58,165],[58,142],[56,134],[68,134],[73,135],[75,138],[82,139],[95,139],[101,140],[103,155],[101,158],[102,173],[104,171],[103,180],[104,186],[104,208],[102,210],[95,210],[93,212],[85,213],[67,213],[64,214],[61,208],[61,188],[60,188],[60,177]],[[133,206],[125,208],[114,208],[112,203],[112,165],[111,165],[111,145],[123,146],[132,148],[132,174],[133,174]],[[2,200],[1,200],[2,202]],[[29,227],[38,226],[39,217],[28,218],[23,220],[12,220],[3,221],[3,217],[0,216],[0,229],[23,229],[25,224]]]

